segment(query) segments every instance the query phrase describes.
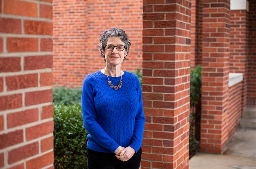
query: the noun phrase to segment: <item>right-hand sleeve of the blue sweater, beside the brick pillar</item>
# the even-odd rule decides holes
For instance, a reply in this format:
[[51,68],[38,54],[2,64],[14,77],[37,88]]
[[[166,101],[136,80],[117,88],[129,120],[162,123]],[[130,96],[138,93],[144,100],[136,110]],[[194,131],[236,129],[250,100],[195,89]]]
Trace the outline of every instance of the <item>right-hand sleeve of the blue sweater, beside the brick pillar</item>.
[[137,153],[139,148],[142,145],[142,138],[143,138],[143,131],[144,131],[144,124],[145,124],[145,117],[143,112],[143,103],[142,103],[142,92],[140,88],[139,79],[136,76],[136,90],[138,95],[139,107],[135,117],[135,125],[133,131],[133,139],[130,143],[130,147],[132,147],[135,152]]

